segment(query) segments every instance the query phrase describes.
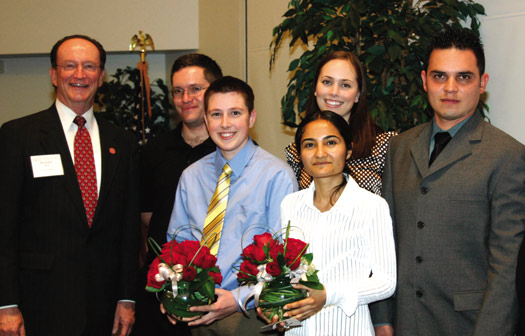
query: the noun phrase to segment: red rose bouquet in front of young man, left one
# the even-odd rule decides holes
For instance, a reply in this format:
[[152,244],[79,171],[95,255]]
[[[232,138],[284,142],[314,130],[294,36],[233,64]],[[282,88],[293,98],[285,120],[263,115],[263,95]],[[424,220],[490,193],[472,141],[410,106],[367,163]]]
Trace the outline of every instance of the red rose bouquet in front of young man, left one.
[[160,295],[166,310],[175,317],[193,317],[191,306],[207,305],[215,300],[215,284],[222,275],[215,265],[217,257],[198,241],[175,239],[162,248],[150,240],[157,257],[150,265],[146,290]]

